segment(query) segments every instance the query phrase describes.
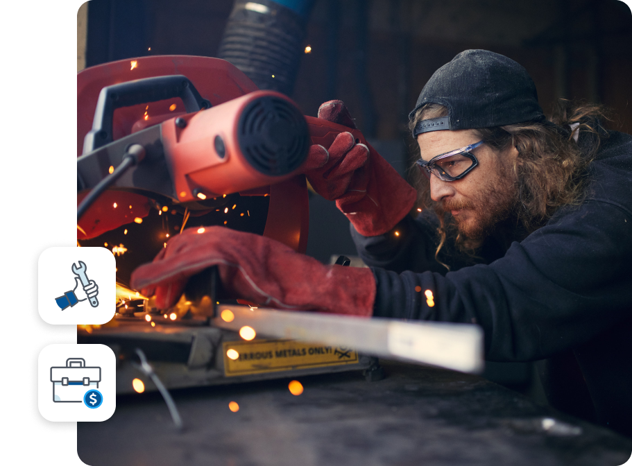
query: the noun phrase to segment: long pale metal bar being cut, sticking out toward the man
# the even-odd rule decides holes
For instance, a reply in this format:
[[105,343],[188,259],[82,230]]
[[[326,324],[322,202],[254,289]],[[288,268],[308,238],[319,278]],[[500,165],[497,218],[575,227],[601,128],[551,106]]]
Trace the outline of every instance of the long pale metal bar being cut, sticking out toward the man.
[[[230,321],[221,317],[230,311]],[[318,341],[388,359],[437,365],[461,372],[484,368],[483,331],[477,325],[444,322],[403,322],[334,314],[277,311],[247,306],[219,305],[212,324],[239,331],[253,327],[257,334],[275,338]]]

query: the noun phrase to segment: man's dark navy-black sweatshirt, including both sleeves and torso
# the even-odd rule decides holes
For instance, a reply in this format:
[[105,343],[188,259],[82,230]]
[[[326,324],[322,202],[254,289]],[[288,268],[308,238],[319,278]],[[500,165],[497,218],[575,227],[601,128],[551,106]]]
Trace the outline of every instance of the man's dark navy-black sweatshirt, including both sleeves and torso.
[[[595,138],[579,144],[586,150]],[[588,176],[581,205],[558,209],[528,236],[493,234],[479,264],[448,246],[440,259],[450,272],[434,259],[432,213],[380,236],[351,232],[377,282],[374,316],[475,322],[490,361],[573,350],[599,420],[632,435],[632,137],[602,138]]]

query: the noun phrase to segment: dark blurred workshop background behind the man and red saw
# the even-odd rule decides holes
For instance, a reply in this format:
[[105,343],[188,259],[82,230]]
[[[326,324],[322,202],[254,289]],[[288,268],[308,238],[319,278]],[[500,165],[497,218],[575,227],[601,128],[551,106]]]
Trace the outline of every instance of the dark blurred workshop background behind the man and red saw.
[[[77,15],[77,71],[142,55],[216,56],[234,0],[90,0]],[[632,12],[619,0],[316,0],[291,98],[306,115],[344,101],[371,144],[405,175],[407,114],[428,78],[465,49],[522,64],[540,105],[581,98],[632,132]],[[151,48],[151,50],[150,50]],[[310,196],[307,254],[355,255],[348,221]],[[543,400],[531,364],[490,364],[486,377]]]

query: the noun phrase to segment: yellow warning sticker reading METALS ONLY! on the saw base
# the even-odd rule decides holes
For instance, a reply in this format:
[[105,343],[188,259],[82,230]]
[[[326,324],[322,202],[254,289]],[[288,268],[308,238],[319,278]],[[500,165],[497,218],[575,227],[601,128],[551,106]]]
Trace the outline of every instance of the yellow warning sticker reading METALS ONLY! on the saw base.
[[295,340],[227,341],[223,351],[226,377],[358,362],[349,348]]

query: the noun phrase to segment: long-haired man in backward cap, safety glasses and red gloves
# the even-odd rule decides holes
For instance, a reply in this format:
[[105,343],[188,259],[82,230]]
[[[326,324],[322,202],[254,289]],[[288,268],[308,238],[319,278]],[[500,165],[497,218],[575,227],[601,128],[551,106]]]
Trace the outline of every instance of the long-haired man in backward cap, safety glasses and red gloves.
[[[319,116],[355,127],[339,101]],[[173,238],[133,286],[168,306],[217,264],[231,295],[282,309],[474,322],[487,359],[549,358],[553,399],[632,435],[632,138],[595,116],[583,107],[547,121],[518,63],[459,53],[410,115],[419,199],[350,133],[310,149],[307,178],[350,219],[370,269],[212,227]]]

